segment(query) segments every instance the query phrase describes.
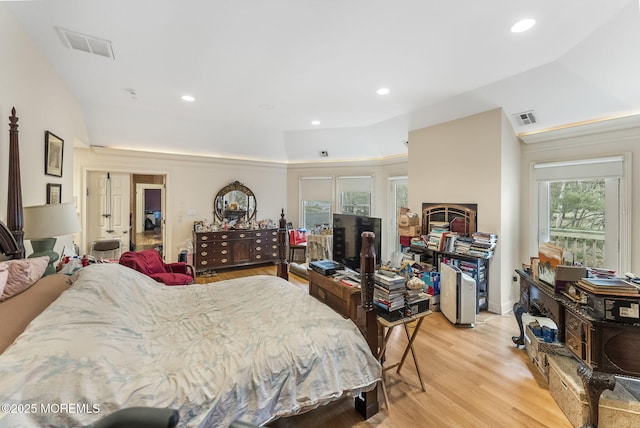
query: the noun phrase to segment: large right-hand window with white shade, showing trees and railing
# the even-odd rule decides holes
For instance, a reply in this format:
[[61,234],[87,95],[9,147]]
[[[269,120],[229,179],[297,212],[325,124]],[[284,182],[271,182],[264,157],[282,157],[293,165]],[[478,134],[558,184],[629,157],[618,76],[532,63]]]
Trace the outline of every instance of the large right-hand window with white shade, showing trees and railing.
[[623,176],[622,156],[535,164],[537,244],[552,242],[584,266],[621,272],[630,216],[622,209]]

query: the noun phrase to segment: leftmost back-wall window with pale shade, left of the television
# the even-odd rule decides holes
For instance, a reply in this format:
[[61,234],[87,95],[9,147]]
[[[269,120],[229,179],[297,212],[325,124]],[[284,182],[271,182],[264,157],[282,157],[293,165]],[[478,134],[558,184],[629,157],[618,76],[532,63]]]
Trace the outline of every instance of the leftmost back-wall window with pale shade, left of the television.
[[332,188],[333,179],[331,177],[303,177],[300,179],[301,227],[312,230],[316,226],[332,223]]

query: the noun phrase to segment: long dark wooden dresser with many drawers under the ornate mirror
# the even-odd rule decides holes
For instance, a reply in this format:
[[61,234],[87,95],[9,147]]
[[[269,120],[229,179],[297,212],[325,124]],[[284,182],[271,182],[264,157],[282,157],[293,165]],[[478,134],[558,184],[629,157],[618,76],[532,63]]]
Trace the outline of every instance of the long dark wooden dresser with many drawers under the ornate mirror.
[[193,233],[196,273],[278,259],[278,229]]

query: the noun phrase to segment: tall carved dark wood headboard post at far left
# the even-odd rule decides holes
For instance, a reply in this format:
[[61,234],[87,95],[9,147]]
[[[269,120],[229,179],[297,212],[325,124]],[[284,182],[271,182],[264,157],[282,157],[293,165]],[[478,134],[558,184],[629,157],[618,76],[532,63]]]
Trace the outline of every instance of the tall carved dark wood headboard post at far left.
[[24,258],[20,150],[18,148],[18,118],[15,107],[11,109],[11,116],[9,116],[9,188],[7,194],[7,227],[18,244],[18,253],[15,254],[15,257]]

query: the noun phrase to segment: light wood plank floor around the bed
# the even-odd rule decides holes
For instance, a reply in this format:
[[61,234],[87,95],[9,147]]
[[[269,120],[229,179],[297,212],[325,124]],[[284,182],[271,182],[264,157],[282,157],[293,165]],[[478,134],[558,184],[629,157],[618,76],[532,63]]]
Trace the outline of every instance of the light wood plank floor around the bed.
[[[256,274],[275,275],[275,268],[221,271],[213,277],[198,278],[197,282]],[[295,275],[290,275],[290,281],[307,287],[307,281]],[[483,312],[475,328],[460,328],[434,312],[425,318],[414,343],[426,392],[420,389],[409,357],[401,374],[395,370],[385,373],[390,409],[381,404],[378,414],[363,420],[353,410],[353,400],[343,399],[280,419],[270,427],[570,428],[542,375],[524,349],[517,349],[511,342],[511,336],[517,334],[512,315]],[[404,332],[396,328],[387,351],[389,364],[398,361],[405,345]]]

